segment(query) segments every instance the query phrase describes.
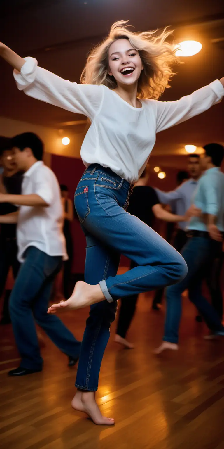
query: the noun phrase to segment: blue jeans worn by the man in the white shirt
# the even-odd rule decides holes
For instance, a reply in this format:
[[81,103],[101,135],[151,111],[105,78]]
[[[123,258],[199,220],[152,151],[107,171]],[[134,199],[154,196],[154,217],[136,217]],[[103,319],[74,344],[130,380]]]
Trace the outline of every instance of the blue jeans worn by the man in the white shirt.
[[81,343],[58,317],[47,314],[54,278],[61,266],[61,256],[49,256],[36,247],[26,250],[25,261],[20,267],[9,301],[22,368],[42,369],[43,359],[34,320],[62,352],[72,357],[79,355]]

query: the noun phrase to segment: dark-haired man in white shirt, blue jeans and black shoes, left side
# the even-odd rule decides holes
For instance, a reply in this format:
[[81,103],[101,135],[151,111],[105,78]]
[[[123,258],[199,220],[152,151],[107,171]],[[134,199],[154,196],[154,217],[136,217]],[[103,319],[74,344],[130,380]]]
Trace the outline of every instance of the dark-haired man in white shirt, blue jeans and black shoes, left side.
[[43,367],[34,319],[69,357],[70,366],[78,360],[81,343],[58,317],[47,314],[54,278],[67,258],[59,184],[42,162],[43,143],[38,136],[32,132],[15,136],[12,148],[18,169],[25,172],[22,195],[0,194],[0,202],[19,206],[17,212],[0,216],[0,223],[17,223],[18,260],[22,265],[9,310],[22,360],[9,375],[22,376]]

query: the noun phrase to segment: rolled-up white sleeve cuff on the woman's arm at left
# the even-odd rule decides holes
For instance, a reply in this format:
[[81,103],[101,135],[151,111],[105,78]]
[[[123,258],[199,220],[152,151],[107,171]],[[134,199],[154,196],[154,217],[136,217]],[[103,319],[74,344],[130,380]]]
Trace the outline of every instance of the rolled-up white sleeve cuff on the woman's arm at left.
[[37,70],[37,60],[33,57],[25,57],[25,64],[23,64],[20,72],[13,70],[13,76],[19,90],[24,90],[31,83],[34,82]]

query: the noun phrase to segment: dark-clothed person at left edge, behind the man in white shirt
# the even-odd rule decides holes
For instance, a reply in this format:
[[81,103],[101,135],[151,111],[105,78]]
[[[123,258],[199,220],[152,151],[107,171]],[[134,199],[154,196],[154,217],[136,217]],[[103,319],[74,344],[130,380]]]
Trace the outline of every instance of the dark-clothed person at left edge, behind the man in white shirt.
[[[13,161],[11,139],[0,136],[0,193],[21,194],[23,172],[19,172]],[[0,203],[0,215],[17,211],[17,206],[9,203]],[[14,279],[19,270],[17,260],[16,224],[2,224],[0,227],[0,297],[6,286],[9,269],[12,268]],[[11,290],[6,290],[3,300],[0,325],[11,322],[9,316],[9,296]]]

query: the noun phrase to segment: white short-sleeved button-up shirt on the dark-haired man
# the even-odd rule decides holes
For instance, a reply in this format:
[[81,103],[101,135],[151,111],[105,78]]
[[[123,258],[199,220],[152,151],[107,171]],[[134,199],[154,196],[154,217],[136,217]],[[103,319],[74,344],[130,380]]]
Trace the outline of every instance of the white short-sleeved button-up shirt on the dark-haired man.
[[48,207],[20,206],[17,224],[18,260],[24,261],[26,248],[32,246],[51,256],[68,258],[62,232],[63,209],[55,174],[38,161],[24,174],[22,195],[37,194]]

